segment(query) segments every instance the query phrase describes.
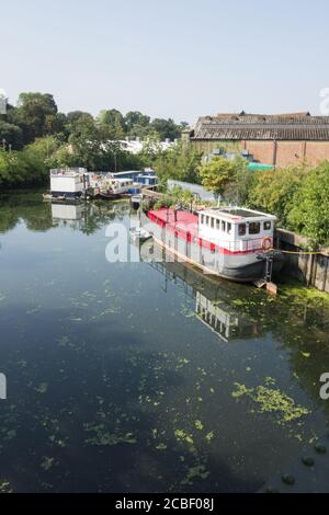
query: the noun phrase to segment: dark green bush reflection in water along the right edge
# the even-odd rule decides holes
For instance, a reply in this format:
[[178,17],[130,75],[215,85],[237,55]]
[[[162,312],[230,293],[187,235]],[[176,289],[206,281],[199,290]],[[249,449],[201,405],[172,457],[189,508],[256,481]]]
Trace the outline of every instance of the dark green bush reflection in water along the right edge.
[[290,294],[288,288],[285,291],[276,298],[246,291],[239,309],[259,320],[288,352],[294,380],[324,409],[329,421],[329,402],[319,396],[319,378],[329,371],[329,301],[320,296],[307,298],[302,287],[300,295]]

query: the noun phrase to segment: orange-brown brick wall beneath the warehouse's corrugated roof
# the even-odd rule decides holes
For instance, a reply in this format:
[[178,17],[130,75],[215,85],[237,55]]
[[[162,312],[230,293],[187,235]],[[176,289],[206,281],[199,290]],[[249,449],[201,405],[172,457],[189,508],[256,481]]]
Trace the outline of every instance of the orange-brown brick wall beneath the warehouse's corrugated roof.
[[[191,140],[197,151],[212,153],[216,148],[226,147],[228,141]],[[232,141],[231,150],[248,150],[256,161],[276,167],[288,167],[306,160],[310,164],[329,160],[329,141]]]

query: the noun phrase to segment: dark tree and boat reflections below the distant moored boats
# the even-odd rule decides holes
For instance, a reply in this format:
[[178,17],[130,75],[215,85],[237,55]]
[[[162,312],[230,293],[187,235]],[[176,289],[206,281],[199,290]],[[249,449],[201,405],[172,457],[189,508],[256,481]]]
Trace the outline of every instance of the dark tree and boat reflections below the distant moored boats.
[[[61,204],[63,206],[68,204]],[[111,220],[123,219],[128,214],[127,203],[81,203],[78,219],[53,217],[52,204],[42,202],[41,192],[11,193],[0,197],[0,232],[13,230],[20,220],[32,231],[47,231],[53,227],[69,227],[92,234]]]

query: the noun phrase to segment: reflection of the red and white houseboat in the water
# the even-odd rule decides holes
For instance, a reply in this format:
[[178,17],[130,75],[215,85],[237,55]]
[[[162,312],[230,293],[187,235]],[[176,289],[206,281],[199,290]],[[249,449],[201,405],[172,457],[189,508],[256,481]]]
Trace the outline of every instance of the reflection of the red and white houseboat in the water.
[[222,340],[228,342],[261,335],[261,327],[240,314],[232,305],[236,294],[228,283],[178,261],[163,262],[162,252],[159,245],[147,242],[140,248],[140,259],[163,275],[164,290],[168,282],[179,285],[194,300],[195,316]]

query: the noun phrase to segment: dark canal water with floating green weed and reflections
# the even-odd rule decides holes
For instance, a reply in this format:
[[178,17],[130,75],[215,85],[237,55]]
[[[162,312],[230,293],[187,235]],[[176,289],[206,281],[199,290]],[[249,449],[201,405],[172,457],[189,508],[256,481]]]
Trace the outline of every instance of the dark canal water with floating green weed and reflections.
[[3,492],[254,492],[326,435],[326,298],[109,262],[135,218],[0,197]]

